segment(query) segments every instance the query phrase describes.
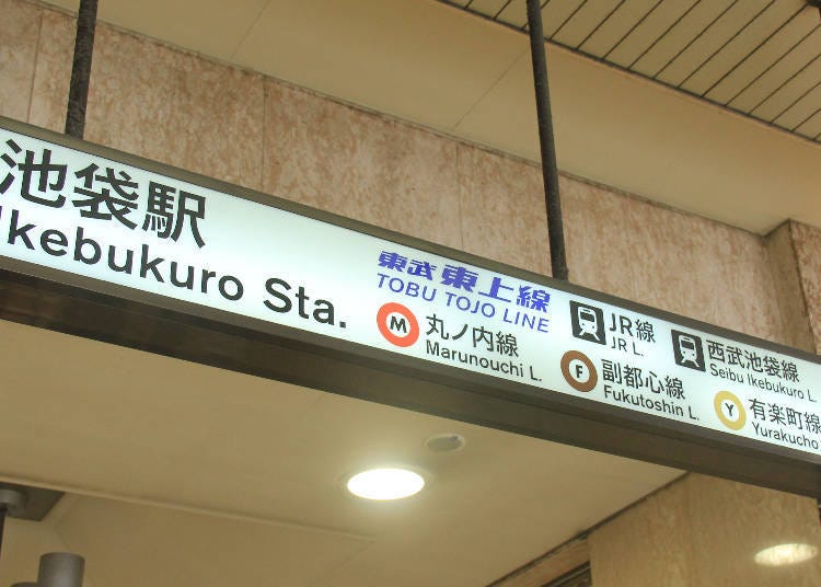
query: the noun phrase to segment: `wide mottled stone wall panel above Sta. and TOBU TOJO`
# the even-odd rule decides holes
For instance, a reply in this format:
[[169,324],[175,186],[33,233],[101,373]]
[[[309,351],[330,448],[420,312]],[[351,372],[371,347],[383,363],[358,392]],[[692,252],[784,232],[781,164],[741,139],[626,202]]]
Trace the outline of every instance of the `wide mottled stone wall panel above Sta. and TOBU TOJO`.
[[395,119],[266,84],[267,193],[461,248],[456,150]]

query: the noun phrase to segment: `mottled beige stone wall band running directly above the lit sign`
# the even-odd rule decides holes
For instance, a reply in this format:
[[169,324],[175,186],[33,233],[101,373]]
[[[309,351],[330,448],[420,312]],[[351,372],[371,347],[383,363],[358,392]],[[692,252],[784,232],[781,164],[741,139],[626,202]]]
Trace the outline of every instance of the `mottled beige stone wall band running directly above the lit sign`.
[[[0,114],[60,130],[73,21],[0,0]],[[4,20],[5,20],[4,19]],[[386,116],[97,30],[85,138],[542,274],[540,170]],[[794,343],[764,241],[560,181],[573,281]]]

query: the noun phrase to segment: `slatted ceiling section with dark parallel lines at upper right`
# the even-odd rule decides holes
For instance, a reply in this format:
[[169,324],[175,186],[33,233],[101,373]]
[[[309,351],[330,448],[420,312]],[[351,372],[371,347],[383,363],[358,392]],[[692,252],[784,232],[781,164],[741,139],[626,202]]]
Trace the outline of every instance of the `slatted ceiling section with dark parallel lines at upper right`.
[[[442,0],[525,31],[525,0]],[[551,43],[821,140],[821,14],[807,0],[541,0]]]

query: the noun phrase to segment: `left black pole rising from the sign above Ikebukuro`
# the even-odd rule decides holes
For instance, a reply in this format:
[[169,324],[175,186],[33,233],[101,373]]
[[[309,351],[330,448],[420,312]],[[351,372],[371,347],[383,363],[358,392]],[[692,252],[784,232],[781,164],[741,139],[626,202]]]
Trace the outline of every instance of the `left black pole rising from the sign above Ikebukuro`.
[[85,130],[85,104],[89,101],[91,56],[94,53],[94,30],[97,21],[97,0],[80,0],[74,37],[74,60],[71,67],[66,134],[83,138]]

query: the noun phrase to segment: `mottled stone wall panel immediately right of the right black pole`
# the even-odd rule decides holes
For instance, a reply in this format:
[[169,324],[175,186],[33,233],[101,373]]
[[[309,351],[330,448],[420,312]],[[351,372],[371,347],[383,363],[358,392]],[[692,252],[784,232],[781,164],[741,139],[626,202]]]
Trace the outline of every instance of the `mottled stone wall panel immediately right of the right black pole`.
[[760,237],[583,181],[562,180],[571,281],[786,341]]

